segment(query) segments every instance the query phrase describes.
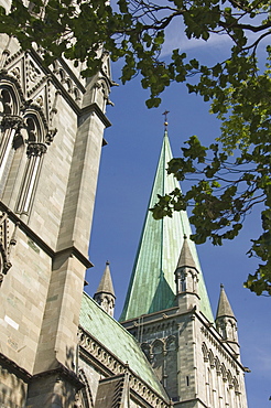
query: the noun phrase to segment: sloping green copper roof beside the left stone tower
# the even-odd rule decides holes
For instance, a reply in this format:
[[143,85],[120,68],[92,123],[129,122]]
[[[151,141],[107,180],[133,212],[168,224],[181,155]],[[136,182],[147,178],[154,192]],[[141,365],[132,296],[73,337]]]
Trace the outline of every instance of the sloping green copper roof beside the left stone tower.
[[164,399],[169,399],[136,339],[84,292],[79,324]]

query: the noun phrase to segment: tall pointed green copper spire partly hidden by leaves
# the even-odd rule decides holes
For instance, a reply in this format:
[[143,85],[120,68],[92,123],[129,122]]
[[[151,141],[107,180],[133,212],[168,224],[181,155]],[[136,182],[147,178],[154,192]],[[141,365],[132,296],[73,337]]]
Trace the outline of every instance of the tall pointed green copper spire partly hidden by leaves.
[[[165,130],[148,208],[154,206],[158,194],[164,195],[180,187],[177,180],[173,175],[167,175],[166,172],[171,159],[172,152]],[[191,235],[186,212],[174,213],[172,218],[165,217],[155,221],[148,210],[120,321],[139,318],[142,314],[158,312],[174,305],[176,291],[174,271],[183,247],[184,235]],[[187,239],[187,241],[199,271],[200,310],[207,319],[213,321],[196,248],[192,240]]]

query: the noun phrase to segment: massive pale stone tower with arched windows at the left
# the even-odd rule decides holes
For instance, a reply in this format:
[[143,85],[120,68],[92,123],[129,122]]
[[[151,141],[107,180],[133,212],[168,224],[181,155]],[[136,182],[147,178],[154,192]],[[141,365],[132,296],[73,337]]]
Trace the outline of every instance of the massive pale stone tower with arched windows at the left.
[[74,407],[77,331],[110,66],[0,43],[0,405]]

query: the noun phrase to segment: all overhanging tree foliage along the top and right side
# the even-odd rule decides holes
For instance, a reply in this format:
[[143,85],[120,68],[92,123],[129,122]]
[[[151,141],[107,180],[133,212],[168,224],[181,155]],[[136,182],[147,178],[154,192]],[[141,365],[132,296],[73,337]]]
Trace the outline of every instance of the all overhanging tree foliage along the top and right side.
[[[265,71],[258,64],[259,47],[271,33],[270,4],[270,0],[118,0],[113,9],[106,0],[32,0],[28,7],[13,0],[9,12],[0,9],[1,31],[15,36],[25,50],[37,43],[46,64],[65,56],[75,65],[85,63],[84,75],[91,76],[101,66],[104,47],[112,61],[123,60],[123,84],[141,74],[142,87],[150,89],[148,107],[160,105],[160,94],[173,80],[186,83],[189,93],[212,103],[221,119],[218,143],[207,149],[196,137],[189,139],[184,157],[173,159],[169,172],[178,180],[189,174],[198,180],[186,194],[175,191],[160,197],[153,215],[171,216],[172,211],[195,204],[193,238],[203,243],[210,237],[220,245],[238,235],[246,215],[261,203],[263,233],[252,240],[249,256],[258,256],[262,264],[246,282],[257,294],[271,294],[271,47],[265,49]],[[231,42],[228,57],[206,66],[172,50],[170,62],[163,61],[166,29],[174,20],[187,41],[226,35]]]

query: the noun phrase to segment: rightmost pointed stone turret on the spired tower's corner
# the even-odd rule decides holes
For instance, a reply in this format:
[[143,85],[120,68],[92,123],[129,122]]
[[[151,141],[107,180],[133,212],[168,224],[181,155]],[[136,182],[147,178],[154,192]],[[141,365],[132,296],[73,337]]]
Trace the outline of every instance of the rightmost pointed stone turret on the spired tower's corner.
[[216,329],[223,336],[223,340],[235,351],[236,356],[239,356],[240,346],[238,343],[237,320],[223,284],[220,284],[220,297],[216,313]]

